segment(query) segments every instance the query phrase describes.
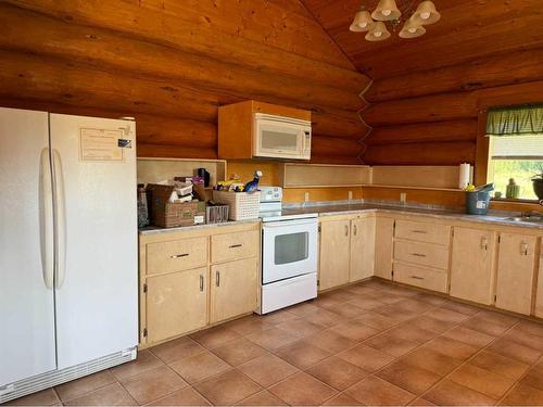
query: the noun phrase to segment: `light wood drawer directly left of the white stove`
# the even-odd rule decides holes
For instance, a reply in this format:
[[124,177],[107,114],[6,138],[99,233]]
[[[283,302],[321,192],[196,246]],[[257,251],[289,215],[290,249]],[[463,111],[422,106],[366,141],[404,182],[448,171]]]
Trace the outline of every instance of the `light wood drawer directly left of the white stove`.
[[257,256],[260,243],[258,230],[212,236],[211,260],[219,263]]

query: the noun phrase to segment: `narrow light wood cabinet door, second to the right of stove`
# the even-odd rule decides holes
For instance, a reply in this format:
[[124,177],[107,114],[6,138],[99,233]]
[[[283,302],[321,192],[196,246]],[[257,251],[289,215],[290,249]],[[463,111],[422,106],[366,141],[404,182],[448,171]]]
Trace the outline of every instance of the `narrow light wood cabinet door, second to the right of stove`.
[[374,276],[375,217],[351,220],[350,281]]

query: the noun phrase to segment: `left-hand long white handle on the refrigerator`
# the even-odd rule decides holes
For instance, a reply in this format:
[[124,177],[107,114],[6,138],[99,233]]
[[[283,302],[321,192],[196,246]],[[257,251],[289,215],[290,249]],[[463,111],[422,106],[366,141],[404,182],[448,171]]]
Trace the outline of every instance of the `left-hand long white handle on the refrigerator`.
[[53,187],[49,149],[41,150],[40,156],[40,254],[43,282],[53,289],[54,269],[54,225],[53,225]]

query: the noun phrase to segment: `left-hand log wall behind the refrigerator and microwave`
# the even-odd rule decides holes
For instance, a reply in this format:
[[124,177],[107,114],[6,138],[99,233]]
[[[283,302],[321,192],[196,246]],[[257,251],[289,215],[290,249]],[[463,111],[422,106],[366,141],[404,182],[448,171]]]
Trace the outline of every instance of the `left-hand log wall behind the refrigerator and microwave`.
[[134,116],[138,155],[217,157],[217,107],[255,99],[307,109],[314,162],[361,163],[356,72],[290,0],[7,0],[0,102]]

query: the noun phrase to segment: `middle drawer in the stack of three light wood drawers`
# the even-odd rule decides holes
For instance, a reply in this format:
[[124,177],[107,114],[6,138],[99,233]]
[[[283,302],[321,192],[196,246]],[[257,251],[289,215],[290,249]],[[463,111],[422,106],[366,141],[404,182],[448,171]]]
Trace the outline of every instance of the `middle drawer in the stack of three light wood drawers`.
[[434,244],[396,240],[394,259],[446,270],[449,249]]

